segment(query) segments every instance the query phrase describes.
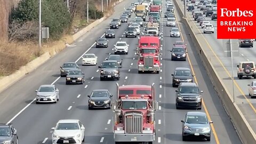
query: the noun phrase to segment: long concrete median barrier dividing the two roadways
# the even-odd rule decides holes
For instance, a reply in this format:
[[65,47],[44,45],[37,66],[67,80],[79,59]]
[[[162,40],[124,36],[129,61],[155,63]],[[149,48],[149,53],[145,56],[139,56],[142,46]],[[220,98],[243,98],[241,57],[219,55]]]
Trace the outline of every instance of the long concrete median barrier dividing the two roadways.
[[[211,81],[215,88],[215,91],[217,91],[223,106],[225,107],[228,115],[230,116],[236,131],[239,135],[239,138],[241,141],[245,144],[252,144],[256,143],[256,135],[254,131],[252,130],[249,123],[246,121],[244,115],[242,114],[241,110],[238,108],[236,103],[233,103],[233,101],[230,99],[230,93],[228,92],[226,86],[223,84],[221,78],[219,77],[217,71],[214,69],[211,60],[207,59],[210,58],[209,51],[203,49],[202,44],[199,42],[198,39],[200,39],[200,36],[196,35],[193,31],[193,29],[196,29],[196,27],[193,27],[189,25],[189,20],[186,18],[183,18],[183,7],[180,7],[178,2],[179,0],[174,0],[174,5],[177,7],[178,13],[180,14],[180,17],[182,17],[182,22],[186,25],[190,37],[193,40],[193,43],[195,45],[195,49],[197,51],[197,54],[199,58],[201,59]],[[202,38],[201,38],[202,39]]]

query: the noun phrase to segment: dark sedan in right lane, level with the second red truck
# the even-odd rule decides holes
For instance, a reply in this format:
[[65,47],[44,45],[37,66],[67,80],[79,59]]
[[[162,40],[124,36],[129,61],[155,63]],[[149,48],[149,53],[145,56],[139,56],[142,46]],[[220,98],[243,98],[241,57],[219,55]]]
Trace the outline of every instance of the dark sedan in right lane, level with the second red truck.
[[171,60],[185,60],[187,59],[187,52],[182,46],[174,46],[172,48],[172,58]]

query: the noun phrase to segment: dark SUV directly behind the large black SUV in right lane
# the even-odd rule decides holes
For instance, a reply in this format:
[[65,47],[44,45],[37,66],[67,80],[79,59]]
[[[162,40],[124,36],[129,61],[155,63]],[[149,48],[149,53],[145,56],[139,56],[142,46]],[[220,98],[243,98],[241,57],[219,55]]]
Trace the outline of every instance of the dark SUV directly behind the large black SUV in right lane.
[[180,82],[193,83],[193,76],[189,68],[175,68],[172,74],[172,87],[176,87]]

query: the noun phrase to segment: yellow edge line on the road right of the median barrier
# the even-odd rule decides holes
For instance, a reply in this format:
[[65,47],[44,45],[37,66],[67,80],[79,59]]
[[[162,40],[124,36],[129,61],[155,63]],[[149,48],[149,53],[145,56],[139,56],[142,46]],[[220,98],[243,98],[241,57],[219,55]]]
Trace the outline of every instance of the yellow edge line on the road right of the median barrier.
[[[189,18],[191,19],[190,15]],[[193,24],[196,26],[195,22],[193,22]],[[197,28],[197,26],[196,26]],[[197,28],[197,30],[200,32],[200,34],[202,35],[201,31]],[[203,36],[203,35],[202,35]],[[205,37],[203,36],[204,41],[206,42],[206,44],[209,46],[210,50],[213,52],[214,56],[218,59],[220,65],[225,69],[226,73],[228,74],[228,76],[232,79],[231,75],[229,74],[228,70],[226,69],[226,67],[223,65],[223,63],[221,62],[221,60],[219,59],[218,55],[213,51],[211,45],[207,42],[207,40],[205,39]],[[198,42],[199,43],[199,42]],[[200,44],[200,43],[199,43]],[[254,106],[252,105],[252,103],[250,102],[249,99],[246,98],[244,92],[242,91],[241,87],[239,87],[239,85],[236,83],[236,81],[234,80],[234,84],[236,85],[237,89],[239,92],[241,92],[241,94],[244,96],[244,98],[246,99],[246,101],[249,103],[249,105],[251,106],[251,108],[253,109],[254,113],[256,113],[256,109],[254,108]]]

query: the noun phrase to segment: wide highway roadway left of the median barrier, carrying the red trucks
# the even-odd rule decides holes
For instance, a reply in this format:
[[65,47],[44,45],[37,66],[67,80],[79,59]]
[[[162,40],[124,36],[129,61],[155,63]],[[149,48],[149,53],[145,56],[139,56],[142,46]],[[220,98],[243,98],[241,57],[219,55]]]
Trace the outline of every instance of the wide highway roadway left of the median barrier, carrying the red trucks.
[[[202,110],[209,114],[213,121],[212,138],[210,142],[200,143],[241,143],[238,135],[230,122],[225,109],[213,85],[202,66],[201,60],[193,52],[193,43],[188,32],[180,23],[180,17],[176,14],[177,25],[181,29],[182,36],[178,38],[170,37],[170,27],[166,27],[166,19],[162,19],[163,25],[163,50],[162,65],[159,74],[138,74],[137,55],[135,48],[138,46],[138,38],[125,38],[124,30],[128,23],[122,23],[119,29],[115,29],[116,38],[109,39],[108,48],[95,48],[95,40],[103,36],[109,29],[109,22],[112,18],[119,18],[123,12],[123,7],[130,5],[133,1],[124,1],[115,7],[115,13],[107,20],[100,23],[79,38],[65,50],[55,55],[49,61],[37,68],[33,73],[20,79],[19,82],[8,87],[0,93],[0,122],[11,122],[18,131],[19,142],[21,144],[51,143],[51,127],[54,127],[59,119],[79,119],[85,126],[84,143],[114,143],[113,138],[113,112],[106,110],[88,110],[87,95],[95,89],[108,89],[116,96],[115,83],[119,85],[127,84],[147,84],[155,83],[159,110],[156,112],[156,141],[154,143],[198,143],[183,142],[181,137],[181,122],[187,111],[175,109],[175,90],[172,87],[172,76],[176,67],[191,67],[196,75],[194,81],[199,88],[204,91]],[[165,2],[163,3],[165,11]],[[163,11],[163,13],[164,13]],[[177,11],[175,10],[175,13]],[[163,15],[162,15],[163,16]],[[132,15],[134,17],[134,14]],[[130,21],[132,18],[129,19]],[[129,22],[130,22],[129,21]],[[187,61],[171,61],[173,43],[184,39],[187,43],[189,59]],[[123,68],[119,81],[100,81],[98,66],[105,58],[114,53],[114,44],[117,41],[126,41],[130,45],[129,54],[122,55]],[[97,66],[82,66],[81,56],[84,53],[94,53],[98,56]],[[60,66],[64,62],[77,61],[80,68],[85,73],[85,83],[83,85],[65,85],[65,78],[59,78]],[[35,90],[42,84],[54,84],[60,91],[60,101],[56,104],[45,103],[36,105]]]

